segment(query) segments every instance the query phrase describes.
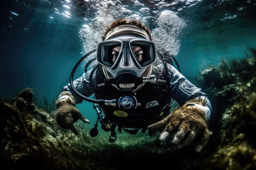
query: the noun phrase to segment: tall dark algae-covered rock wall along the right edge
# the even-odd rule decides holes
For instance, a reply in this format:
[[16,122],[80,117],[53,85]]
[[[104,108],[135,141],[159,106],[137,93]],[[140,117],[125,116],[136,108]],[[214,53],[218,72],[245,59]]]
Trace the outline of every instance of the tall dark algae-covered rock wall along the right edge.
[[[256,50],[252,50],[252,55],[245,59],[222,61],[216,68],[211,68],[213,75],[220,75],[220,86],[208,83],[203,90],[208,92],[215,108],[212,113],[215,116],[210,123],[220,123],[213,135],[217,148],[204,160],[202,169],[256,169]],[[204,85],[205,80],[210,79],[205,73],[209,70],[202,72]]]

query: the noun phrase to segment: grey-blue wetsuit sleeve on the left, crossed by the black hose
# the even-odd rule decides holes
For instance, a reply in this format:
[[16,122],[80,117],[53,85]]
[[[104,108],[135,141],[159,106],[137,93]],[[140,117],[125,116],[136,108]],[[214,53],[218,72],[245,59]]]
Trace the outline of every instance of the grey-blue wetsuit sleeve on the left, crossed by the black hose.
[[[82,95],[86,96],[86,97],[89,97],[90,95],[92,95],[94,92],[92,90],[92,88],[90,87],[90,73],[91,73],[92,70],[86,72],[86,73],[83,73],[83,75],[81,77],[79,77],[78,79],[74,80],[73,84],[74,84],[74,87],[76,89],[76,91],[78,91],[79,93],[81,93]],[[95,73],[94,72],[94,75],[92,76],[92,80],[95,79]],[[67,84],[67,86],[63,87],[63,91],[68,91],[70,92],[74,98],[75,98],[75,102],[76,104],[80,104],[83,102],[83,99],[79,98],[75,93],[74,91],[72,91],[72,88],[70,86],[70,84]],[[62,99],[62,98],[65,98],[64,96],[60,95],[58,97],[58,100],[59,99]]]

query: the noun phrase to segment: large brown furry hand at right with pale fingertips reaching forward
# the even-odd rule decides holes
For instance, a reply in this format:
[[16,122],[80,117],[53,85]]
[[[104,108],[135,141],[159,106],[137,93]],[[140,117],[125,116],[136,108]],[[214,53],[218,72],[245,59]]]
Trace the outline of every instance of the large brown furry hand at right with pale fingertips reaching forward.
[[[211,132],[207,128],[205,112],[198,107],[187,106],[189,103],[203,105],[205,101],[193,99],[186,102],[181,108],[175,108],[173,113],[162,121],[148,126],[148,130],[153,132],[162,131],[159,137],[161,141],[173,136],[172,143],[177,144],[178,149],[191,143],[195,135],[200,135],[200,141],[195,151],[201,152],[202,148],[207,144]],[[177,133],[175,134],[175,132]]]

